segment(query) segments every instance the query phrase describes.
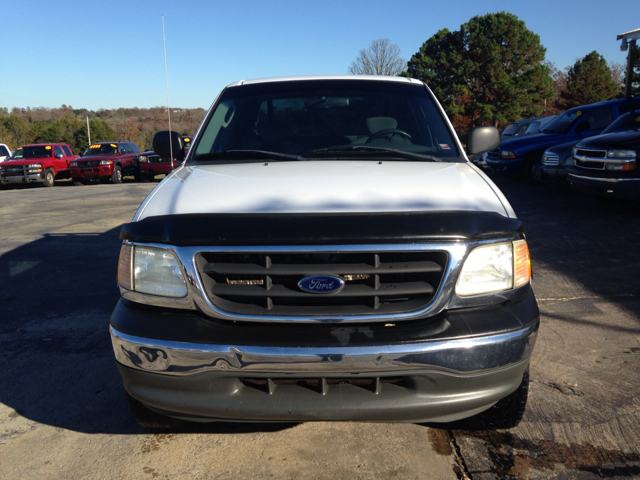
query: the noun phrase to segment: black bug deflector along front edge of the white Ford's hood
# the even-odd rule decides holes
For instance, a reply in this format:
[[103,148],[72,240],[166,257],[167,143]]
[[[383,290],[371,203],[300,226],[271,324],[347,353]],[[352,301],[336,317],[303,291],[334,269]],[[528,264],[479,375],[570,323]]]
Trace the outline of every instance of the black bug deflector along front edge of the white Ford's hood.
[[147,217],[123,225],[120,238],[176,246],[266,246],[421,243],[524,233],[522,221],[495,212],[218,213]]

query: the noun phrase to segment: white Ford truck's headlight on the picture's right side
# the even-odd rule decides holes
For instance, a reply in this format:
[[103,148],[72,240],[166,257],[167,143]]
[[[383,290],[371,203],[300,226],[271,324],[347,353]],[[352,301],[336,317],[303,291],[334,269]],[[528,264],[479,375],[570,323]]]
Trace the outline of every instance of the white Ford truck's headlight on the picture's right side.
[[462,266],[456,293],[460,296],[509,290],[531,279],[531,260],[525,240],[483,245],[471,251]]

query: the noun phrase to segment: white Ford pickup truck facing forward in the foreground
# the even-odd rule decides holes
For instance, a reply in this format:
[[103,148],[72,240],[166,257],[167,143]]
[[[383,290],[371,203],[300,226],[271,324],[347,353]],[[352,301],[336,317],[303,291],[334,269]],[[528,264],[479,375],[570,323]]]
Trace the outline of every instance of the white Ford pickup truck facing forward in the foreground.
[[[499,141],[477,127],[468,153]],[[420,81],[227,86],[120,236],[110,333],[141,425],[522,418],[525,228]]]

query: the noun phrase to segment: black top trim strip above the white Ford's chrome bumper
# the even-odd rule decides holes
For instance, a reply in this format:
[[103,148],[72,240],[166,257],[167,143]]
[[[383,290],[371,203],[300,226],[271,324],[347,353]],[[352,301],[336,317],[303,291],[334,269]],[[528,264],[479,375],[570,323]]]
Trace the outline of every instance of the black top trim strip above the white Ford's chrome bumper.
[[279,347],[373,346],[491,335],[522,329],[539,319],[531,288],[523,297],[490,307],[445,311],[390,324],[286,324],[230,322],[120,299],[111,315],[118,331],[142,338],[218,345]]

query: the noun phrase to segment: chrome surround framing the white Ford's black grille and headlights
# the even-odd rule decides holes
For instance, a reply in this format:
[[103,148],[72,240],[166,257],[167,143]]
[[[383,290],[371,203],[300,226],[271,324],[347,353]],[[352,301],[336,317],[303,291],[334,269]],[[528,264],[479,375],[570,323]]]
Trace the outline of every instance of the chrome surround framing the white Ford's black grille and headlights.
[[[155,295],[147,295],[139,292],[126,290],[119,286],[121,295],[133,302],[160,306],[163,308],[176,308],[184,310],[201,311],[205,315],[231,321],[249,322],[299,322],[299,323],[366,323],[366,322],[395,322],[404,320],[415,320],[436,315],[445,308],[463,308],[480,305],[491,305],[517,298],[523,290],[528,289],[525,285],[518,289],[505,290],[496,293],[475,295],[470,297],[459,297],[455,293],[455,285],[462,268],[462,263],[468,253],[475,247],[510,240],[518,240],[521,236],[500,237],[491,240],[479,240],[464,242],[462,239],[436,239],[424,244],[372,244],[372,245],[308,245],[308,246],[249,246],[249,247],[175,247],[164,244],[140,243],[146,247],[164,248],[176,255],[182,266],[182,271],[187,283],[187,295],[183,298],[167,298]],[[126,242],[136,245],[135,242]],[[203,253],[362,253],[362,252],[444,252],[447,255],[447,262],[444,265],[442,280],[435,291],[430,302],[410,312],[372,313],[372,314],[317,314],[317,315],[283,315],[283,314],[247,314],[233,313],[225,311],[213,303],[205,293],[206,287],[203,283],[202,275],[198,270],[198,257]]]

